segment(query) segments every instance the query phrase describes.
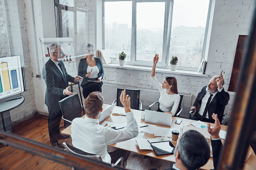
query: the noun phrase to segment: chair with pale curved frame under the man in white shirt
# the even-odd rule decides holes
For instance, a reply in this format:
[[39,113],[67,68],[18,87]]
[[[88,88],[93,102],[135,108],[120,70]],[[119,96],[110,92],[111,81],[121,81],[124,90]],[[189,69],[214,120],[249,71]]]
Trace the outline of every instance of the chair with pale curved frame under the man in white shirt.
[[[99,154],[92,154],[92,153],[82,151],[82,150],[80,150],[80,149],[78,149],[74,146],[71,146],[70,144],[67,144],[66,142],[63,142],[63,146],[65,147],[64,150],[68,150],[71,153],[74,153],[74,154],[77,154],[77,155],[80,155],[80,156],[83,156],[83,157],[88,157],[88,158],[91,158],[91,159],[96,159],[96,160],[102,161],[101,156]],[[112,167],[116,166],[119,162],[120,162],[120,166],[122,167],[123,166],[123,157],[120,157],[115,163],[112,163],[111,166]],[[72,167],[72,169],[74,169],[74,168]]]

